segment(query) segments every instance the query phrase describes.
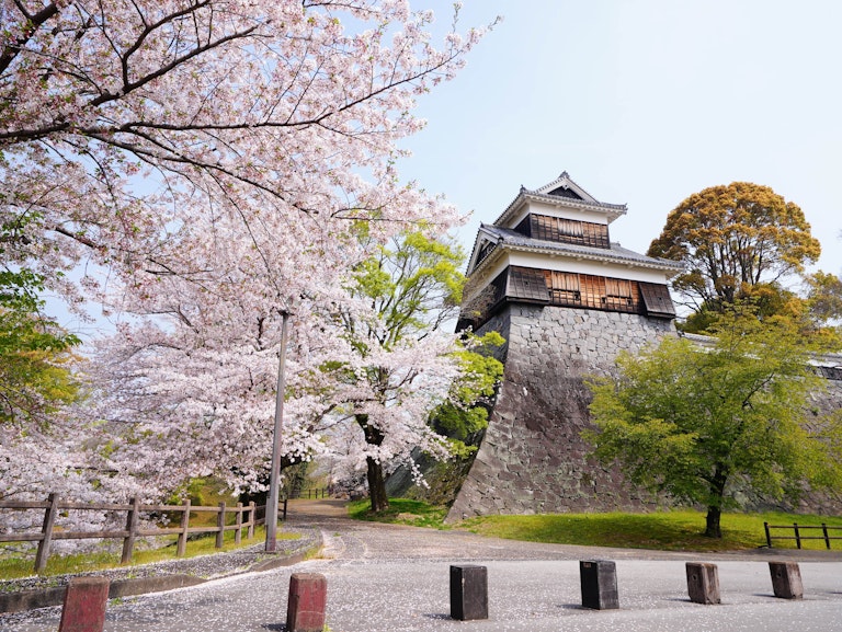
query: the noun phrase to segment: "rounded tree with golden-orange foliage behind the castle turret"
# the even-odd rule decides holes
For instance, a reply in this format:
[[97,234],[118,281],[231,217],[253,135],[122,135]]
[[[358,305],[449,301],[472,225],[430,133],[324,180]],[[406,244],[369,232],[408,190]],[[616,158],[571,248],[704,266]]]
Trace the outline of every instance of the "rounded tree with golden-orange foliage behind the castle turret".
[[648,254],[682,261],[673,289],[694,310],[721,312],[753,286],[801,275],[819,241],[801,209],[767,186],[733,182],[695,193],[670,211]]

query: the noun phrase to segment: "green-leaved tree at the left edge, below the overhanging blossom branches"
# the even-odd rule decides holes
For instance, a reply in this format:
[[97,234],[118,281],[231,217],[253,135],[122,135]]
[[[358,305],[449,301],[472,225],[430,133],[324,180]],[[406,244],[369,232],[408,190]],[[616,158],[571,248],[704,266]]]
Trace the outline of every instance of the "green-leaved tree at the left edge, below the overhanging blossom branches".
[[44,427],[79,394],[70,370],[79,338],[42,314],[41,284],[26,269],[0,271],[0,423]]

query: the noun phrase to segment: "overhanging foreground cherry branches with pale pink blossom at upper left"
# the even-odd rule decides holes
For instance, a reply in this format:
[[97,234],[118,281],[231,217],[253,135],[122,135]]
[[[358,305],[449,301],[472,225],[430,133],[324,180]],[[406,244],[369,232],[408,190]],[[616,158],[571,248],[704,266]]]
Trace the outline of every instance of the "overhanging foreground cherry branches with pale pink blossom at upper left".
[[75,300],[61,273],[82,261],[129,285],[196,274],[171,255],[200,215],[235,220],[258,257],[281,230],[293,267],[351,221],[388,235],[456,219],[394,164],[422,126],[414,99],[479,30],[454,22],[436,48],[432,13],[406,0],[7,0],[0,15],[8,255]]

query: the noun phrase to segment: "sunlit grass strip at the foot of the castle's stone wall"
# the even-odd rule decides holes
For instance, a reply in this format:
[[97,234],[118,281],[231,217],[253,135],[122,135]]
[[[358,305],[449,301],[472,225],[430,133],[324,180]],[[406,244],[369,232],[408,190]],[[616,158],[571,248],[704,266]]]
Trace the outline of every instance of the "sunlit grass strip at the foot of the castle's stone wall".
[[[547,514],[536,516],[483,516],[469,518],[452,527],[442,525],[444,507],[431,507],[418,501],[390,498],[390,508],[383,516],[368,512],[367,501],[349,505],[352,518],[398,522],[418,527],[464,529],[482,536],[589,547],[618,547],[624,549],[657,549],[662,551],[740,551],[766,544],[763,522],[771,525],[842,527],[842,517],[807,516],[782,513],[725,514],[722,538],[702,535],[705,514],[693,510],[660,512],[653,514]],[[792,536],[793,531],[773,535]],[[821,536],[820,530],[803,531],[801,536]],[[842,537],[841,531],[831,536]],[[776,549],[795,549],[795,540],[776,540]],[[826,549],[823,540],[805,540],[804,549]],[[842,540],[831,541],[842,549]]]

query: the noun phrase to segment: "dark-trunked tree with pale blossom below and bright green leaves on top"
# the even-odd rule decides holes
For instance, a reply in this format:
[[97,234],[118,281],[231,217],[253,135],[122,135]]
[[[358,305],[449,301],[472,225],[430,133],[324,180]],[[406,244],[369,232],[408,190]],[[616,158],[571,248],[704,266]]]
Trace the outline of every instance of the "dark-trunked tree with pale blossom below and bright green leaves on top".
[[452,243],[405,232],[352,274],[346,287],[359,308],[345,301],[334,311],[349,353],[322,369],[340,384],[331,393],[338,415],[362,430],[356,447],[373,512],[388,508],[386,466],[411,464],[413,448],[436,458],[448,453],[429,417],[459,376],[456,336],[441,325],[462,301],[463,260]]

